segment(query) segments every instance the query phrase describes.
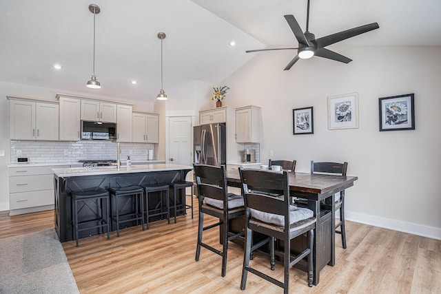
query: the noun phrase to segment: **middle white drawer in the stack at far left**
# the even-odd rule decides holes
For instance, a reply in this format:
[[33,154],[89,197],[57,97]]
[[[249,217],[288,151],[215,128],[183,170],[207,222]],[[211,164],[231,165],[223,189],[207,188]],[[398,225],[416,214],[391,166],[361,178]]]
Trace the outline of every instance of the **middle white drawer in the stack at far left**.
[[37,176],[12,176],[9,178],[10,193],[54,189],[54,174]]

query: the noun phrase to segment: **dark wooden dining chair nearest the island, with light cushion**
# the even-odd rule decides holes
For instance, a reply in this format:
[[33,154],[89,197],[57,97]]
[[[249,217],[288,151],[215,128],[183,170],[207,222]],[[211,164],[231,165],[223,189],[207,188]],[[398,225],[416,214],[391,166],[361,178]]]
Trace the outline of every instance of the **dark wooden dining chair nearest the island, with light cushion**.
[[[196,176],[197,196],[199,205],[198,243],[196,246],[196,262],[201,254],[201,247],[222,256],[222,273],[225,277],[227,271],[228,242],[245,232],[229,233],[229,220],[245,214],[243,196],[227,193],[227,180],[225,166],[214,167],[212,165],[193,164]],[[219,221],[204,227],[204,214],[214,216]],[[203,231],[222,226],[221,242],[223,250],[218,251],[213,246],[203,242]]]

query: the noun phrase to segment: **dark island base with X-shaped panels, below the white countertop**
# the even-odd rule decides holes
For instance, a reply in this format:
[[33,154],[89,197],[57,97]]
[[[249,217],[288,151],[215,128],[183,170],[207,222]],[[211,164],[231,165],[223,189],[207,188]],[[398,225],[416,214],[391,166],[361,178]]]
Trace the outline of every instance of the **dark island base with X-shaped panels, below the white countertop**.
[[[94,189],[95,187],[101,187],[103,189],[109,189],[114,187],[127,187],[130,185],[151,185],[156,182],[170,183],[176,180],[185,180],[185,176],[189,169],[174,170],[174,171],[149,171],[139,172],[132,174],[112,174],[112,175],[100,175],[100,176],[74,176],[59,178],[54,176],[55,187],[55,229],[57,231],[59,240],[61,242],[74,240],[74,233],[72,228],[72,205],[70,192],[82,191],[87,189]],[[170,190],[170,218],[173,219],[173,202],[172,194]],[[176,204],[182,204],[185,195],[179,192],[176,195]],[[149,208],[155,209],[159,204],[160,193],[149,193]],[[112,202],[112,201],[111,201]],[[145,206],[145,204],[144,204]],[[115,215],[116,209],[120,213],[131,213],[134,211],[134,202],[132,198],[127,198],[125,201],[119,201],[119,207],[111,205],[110,211],[112,215]],[[145,210],[145,209],[144,209]],[[105,212],[108,213],[108,212]],[[177,213],[182,215],[183,211]],[[82,209],[79,210],[78,217],[80,222],[96,220],[98,216],[101,216],[101,202],[88,201],[85,202]],[[160,220],[161,218],[150,218],[150,222]],[[145,218],[146,221],[146,218]],[[96,222],[98,223],[98,222]],[[114,222],[110,221],[112,231],[116,230]],[[139,225],[136,222],[125,222],[120,224],[120,229],[126,227],[133,227]],[[99,233],[105,233],[101,229],[90,229],[81,231],[79,237],[86,237],[89,235],[96,235]]]

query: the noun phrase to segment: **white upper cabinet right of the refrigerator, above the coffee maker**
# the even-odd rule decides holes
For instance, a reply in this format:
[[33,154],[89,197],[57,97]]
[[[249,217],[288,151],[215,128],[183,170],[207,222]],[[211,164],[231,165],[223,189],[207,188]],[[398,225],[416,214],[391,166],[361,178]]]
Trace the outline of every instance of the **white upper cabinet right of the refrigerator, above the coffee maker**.
[[260,142],[260,107],[236,109],[236,143]]

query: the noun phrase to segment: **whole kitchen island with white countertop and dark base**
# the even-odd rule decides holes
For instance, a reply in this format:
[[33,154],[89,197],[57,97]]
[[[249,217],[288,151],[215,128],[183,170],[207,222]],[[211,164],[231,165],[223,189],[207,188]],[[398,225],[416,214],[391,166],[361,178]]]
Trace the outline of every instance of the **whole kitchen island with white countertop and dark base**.
[[[101,187],[127,187],[149,185],[156,182],[170,183],[185,180],[193,167],[188,165],[136,165],[133,167],[72,167],[52,169],[54,172],[55,229],[61,242],[74,240],[70,193]],[[177,204],[183,203],[184,193],[176,196]],[[155,199],[150,204],[156,206]],[[130,203],[129,203],[130,205]],[[149,205],[150,206],[150,205]],[[100,204],[87,205],[79,214],[79,220],[93,220],[99,213]],[[130,222],[127,223],[130,225]],[[133,224],[134,225],[134,224]],[[82,231],[80,237],[96,235],[99,229]]]

